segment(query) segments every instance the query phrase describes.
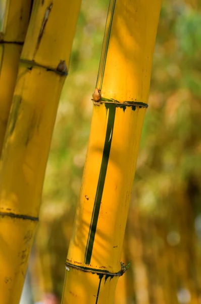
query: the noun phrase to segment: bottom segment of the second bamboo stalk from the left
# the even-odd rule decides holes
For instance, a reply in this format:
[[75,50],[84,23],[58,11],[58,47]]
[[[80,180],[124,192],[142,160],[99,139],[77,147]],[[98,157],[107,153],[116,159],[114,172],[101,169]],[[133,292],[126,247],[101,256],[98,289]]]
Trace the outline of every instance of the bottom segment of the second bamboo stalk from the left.
[[19,303],[36,227],[35,221],[0,217],[2,304]]

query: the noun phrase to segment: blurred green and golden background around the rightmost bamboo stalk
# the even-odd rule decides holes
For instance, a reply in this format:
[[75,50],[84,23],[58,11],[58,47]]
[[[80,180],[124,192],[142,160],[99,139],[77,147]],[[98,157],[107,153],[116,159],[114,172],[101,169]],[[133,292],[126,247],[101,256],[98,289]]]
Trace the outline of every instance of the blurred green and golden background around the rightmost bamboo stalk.
[[[109,0],[82,0],[28,282],[59,298]],[[201,303],[201,1],[164,0],[116,304]],[[28,304],[28,300],[26,301]]]

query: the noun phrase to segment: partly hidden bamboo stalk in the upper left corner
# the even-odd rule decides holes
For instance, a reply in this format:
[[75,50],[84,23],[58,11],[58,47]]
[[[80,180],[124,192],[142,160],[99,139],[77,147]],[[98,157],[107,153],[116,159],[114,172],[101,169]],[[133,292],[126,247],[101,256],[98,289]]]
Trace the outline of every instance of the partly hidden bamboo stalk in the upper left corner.
[[0,0],[0,157],[30,7],[31,0]]

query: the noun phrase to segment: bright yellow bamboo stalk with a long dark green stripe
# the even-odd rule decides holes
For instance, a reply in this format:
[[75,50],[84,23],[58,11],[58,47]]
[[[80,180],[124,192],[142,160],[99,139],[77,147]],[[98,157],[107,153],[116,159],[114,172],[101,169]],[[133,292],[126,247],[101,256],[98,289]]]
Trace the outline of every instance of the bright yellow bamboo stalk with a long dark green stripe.
[[[63,304],[113,303],[161,0],[111,0]],[[136,249],[137,250],[137,249]]]

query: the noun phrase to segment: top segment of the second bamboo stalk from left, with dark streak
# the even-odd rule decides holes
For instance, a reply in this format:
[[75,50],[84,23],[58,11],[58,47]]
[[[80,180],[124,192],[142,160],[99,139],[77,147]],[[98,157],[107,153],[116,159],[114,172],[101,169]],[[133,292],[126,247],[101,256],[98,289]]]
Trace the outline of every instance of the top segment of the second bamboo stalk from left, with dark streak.
[[71,48],[67,46],[73,41],[72,20],[77,19],[80,2],[34,1],[22,58],[55,68],[60,60],[66,60],[69,67]]

